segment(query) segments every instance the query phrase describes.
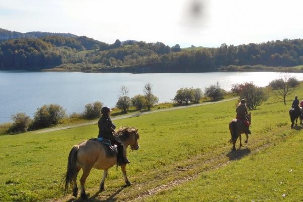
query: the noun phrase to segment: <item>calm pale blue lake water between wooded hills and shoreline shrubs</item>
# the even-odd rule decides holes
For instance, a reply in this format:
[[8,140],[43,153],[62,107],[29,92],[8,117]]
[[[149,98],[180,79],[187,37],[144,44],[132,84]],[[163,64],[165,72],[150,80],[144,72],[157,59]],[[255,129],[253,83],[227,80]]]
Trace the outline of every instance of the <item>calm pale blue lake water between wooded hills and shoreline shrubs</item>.
[[[4,72],[0,71],[0,123],[10,121],[12,114],[24,112],[31,117],[44,104],[59,104],[68,114],[83,112],[87,103],[100,100],[114,107],[120,88],[129,88],[130,97],[143,93],[150,82],[159,101],[170,102],[180,87],[205,87],[215,84],[230,90],[234,83],[253,81],[266,86],[279,78],[276,72],[213,72],[213,73],[67,73],[67,72]],[[303,73],[292,73],[303,80]]]

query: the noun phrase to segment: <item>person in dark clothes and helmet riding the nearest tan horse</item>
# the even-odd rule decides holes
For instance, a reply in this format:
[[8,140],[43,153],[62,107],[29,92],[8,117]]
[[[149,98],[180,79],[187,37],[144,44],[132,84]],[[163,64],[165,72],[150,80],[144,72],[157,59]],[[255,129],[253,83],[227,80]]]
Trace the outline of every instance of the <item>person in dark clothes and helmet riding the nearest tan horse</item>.
[[99,134],[98,137],[103,137],[105,139],[109,139],[113,144],[117,145],[118,154],[118,165],[122,166],[125,164],[129,164],[128,159],[124,155],[124,148],[123,143],[121,142],[120,138],[118,137],[117,132],[115,131],[116,126],[113,124],[110,116],[111,116],[111,109],[109,107],[103,107],[101,109],[102,117],[98,121],[99,127]]

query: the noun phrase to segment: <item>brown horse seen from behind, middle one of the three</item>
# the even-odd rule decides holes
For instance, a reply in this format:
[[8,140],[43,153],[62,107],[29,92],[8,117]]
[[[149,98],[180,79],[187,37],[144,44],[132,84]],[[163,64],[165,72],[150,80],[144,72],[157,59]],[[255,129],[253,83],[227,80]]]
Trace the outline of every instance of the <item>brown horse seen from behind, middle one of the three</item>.
[[[251,114],[249,113],[249,114],[245,115],[245,117],[251,123]],[[233,144],[232,148],[234,150],[236,150],[236,141],[237,141],[238,137],[240,137],[240,147],[242,146],[241,134],[245,133],[245,135],[246,135],[245,143],[248,142],[247,126],[245,126],[245,124],[243,123],[242,120],[233,119],[229,123],[229,131],[230,131],[230,135],[231,135],[231,139],[229,140],[229,142]]]

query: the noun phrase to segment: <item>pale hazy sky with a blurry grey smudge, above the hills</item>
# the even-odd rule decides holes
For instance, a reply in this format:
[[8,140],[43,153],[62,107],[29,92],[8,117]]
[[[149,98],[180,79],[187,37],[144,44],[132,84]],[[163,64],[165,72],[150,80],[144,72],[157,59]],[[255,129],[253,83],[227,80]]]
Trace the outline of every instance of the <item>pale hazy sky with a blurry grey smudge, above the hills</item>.
[[181,47],[303,38],[300,0],[0,0],[0,27]]

